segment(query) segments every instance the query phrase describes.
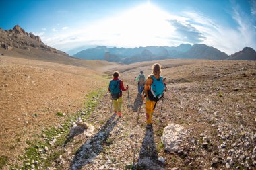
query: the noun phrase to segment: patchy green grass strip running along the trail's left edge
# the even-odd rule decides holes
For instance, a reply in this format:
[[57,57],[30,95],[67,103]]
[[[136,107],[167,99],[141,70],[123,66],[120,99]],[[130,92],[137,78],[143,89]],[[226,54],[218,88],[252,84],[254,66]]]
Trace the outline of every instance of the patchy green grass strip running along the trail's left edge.
[[[100,98],[102,98],[104,93],[106,93],[106,90],[100,89],[98,91],[92,91],[88,95],[86,95],[82,107],[82,111],[85,112],[84,115],[81,115],[81,112],[76,112],[73,115],[66,116],[60,128],[50,127],[47,130],[42,130],[42,134],[38,134],[38,140],[26,140],[28,148],[26,148],[25,155],[20,156],[20,161],[23,162],[23,165],[13,165],[13,167],[18,169],[30,168],[26,167],[26,163],[30,163],[30,165],[32,165],[32,160],[39,162],[39,164],[35,166],[35,169],[46,169],[46,167],[50,166],[53,161],[55,161],[57,158],[59,158],[60,155],[63,155],[63,153],[65,153],[64,148],[61,148],[61,146],[63,146],[65,140],[67,140],[67,134],[69,134],[69,130],[72,126],[70,124],[71,120],[76,120],[78,117],[81,117],[82,119],[88,118],[100,102]],[[63,117],[64,115],[63,112],[57,112],[56,116]],[[57,138],[57,136],[59,137]],[[41,138],[44,138],[44,140],[41,140]],[[51,146],[49,142],[51,142],[53,138],[56,139],[56,142],[53,144],[53,146]],[[76,149],[74,149],[74,153],[80,147],[80,144],[81,142],[75,144]],[[46,159],[41,159],[40,157],[42,155],[39,150],[44,151],[45,146],[49,148],[51,154],[48,155]],[[28,159],[30,161],[26,161]],[[5,165],[6,163],[7,157],[6,159],[5,157],[1,157],[0,167]]]

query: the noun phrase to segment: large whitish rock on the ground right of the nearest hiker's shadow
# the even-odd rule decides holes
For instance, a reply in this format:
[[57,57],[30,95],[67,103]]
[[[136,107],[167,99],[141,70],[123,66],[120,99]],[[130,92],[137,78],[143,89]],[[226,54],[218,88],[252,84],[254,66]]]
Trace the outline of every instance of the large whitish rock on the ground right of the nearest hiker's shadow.
[[172,152],[179,150],[179,144],[181,140],[187,136],[183,126],[179,124],[168,124],[164,128],[162,135],[162,143],[164,144],[164,150]]

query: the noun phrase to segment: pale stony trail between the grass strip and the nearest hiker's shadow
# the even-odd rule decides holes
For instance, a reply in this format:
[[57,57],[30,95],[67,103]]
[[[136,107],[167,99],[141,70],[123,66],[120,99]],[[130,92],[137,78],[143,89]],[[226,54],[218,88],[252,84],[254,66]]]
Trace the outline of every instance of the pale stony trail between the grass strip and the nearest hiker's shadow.
[[[62,168],[101,169],[104,167],[106,169],[108,167],[110,169],[125,169],[125,167],[129,167],[133,163],[135,148],[136,161],[137,159],[142,160],[143,158],[143,161],[145,161],[145,158],[149,158],[154,160],[156,165],[158,165],[158,157],[156,157],[158,153],[156,151],[156,143],[154,142],[156,135],[154,135],[153,130],[146,131],[144,105],[142,105],[139,114],[137,144],[135,142],[137,126],[136,111],[139,108],[135,100],[138,99],[138,95],[136,91],[137,87],[135,85],[129,86],[131,107],[127,107],[127,91],[125,91],[123,93],[123,112],[121,118],[119,118],[119,116],[110,112],[110,95],[107,93],[98,108],[92,113],[92,116],[86,120],[86,122],[96,122],[94,124],[94,126],[98,127],[95,132],[96,134],[90,138],[76,136],[70,144],[67,144],[66,153],[69,153],[72,150],[72,143],[78,140],[84,141],[84,144],[79,147],[74,156],[63,155],[63,157],[67,157],[64,162],[67,161],[68,163]],[[90,149],[88,149],[88,146]],[[152,148],[156,151],[155,155],[151,153]],[[147,151],[150,151],[150,153],[147,153]],[[70,161],[71,158],[72,161]]]

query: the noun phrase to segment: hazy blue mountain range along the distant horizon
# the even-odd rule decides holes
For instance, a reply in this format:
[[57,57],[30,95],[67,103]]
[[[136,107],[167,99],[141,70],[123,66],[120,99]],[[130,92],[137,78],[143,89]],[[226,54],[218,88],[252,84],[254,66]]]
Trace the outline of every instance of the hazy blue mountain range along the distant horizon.
[[207,60],[256,60],[253,48],[245,47],[241,52],[228,56],[217,48],[205,44],[181,44],[179,46],[146,46],[139,48],[108,48],[97,46],[74,54],[86,60],[108,60],[126,64],[167,58],[207,59]]

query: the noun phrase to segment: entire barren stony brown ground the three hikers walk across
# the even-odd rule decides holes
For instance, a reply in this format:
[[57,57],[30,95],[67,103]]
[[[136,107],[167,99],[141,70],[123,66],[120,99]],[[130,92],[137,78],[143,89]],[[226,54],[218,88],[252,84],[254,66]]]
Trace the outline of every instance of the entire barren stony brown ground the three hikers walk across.
[[[253,169],[256,165],[255,62],[158,61],[168,91],[162,114],[159,101],[153,129],[146,130],[144,104],[137,117],[139,95],[133,79],[141,69],[149,75],[154,61],[105,67],[107,74],[119,70],[124,85],[129,85],[131,107],[125,91],[123,116],[117,118],[110,112],[109,77],[82,67],[0,58],[4,129],[0,146],[6,169],[14,165],[20,169],[129,169],[134,153],[138,169],[149,165],[149,169]],[[69,139],[77,117],[95,130]],[[164,151],[161,138],[171,123],[184,128],[184,136],[175,140],[177,150]]]

